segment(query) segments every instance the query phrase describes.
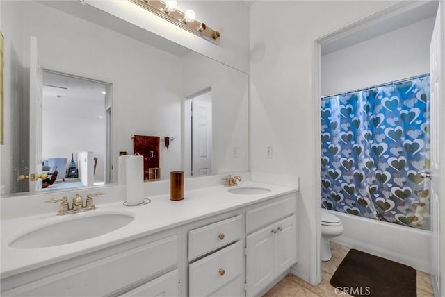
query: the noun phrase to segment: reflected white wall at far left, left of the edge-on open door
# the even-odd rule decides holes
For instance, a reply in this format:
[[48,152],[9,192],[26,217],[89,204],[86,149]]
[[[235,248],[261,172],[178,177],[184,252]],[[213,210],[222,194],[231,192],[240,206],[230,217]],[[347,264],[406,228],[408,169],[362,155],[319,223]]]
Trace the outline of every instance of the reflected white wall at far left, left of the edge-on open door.
[[[20,160],[29,148],[19,146],[23,129],[28,122],[22,119],[22,112],[29,112],[23,105],[24,92],[22,80],[24,74],[23,52],[23,9],[22,1],[1,1],[1,32],[4,37],[3,65],[3,133],[4,144],[0,145],[0,186],[6,193],[17,192],[19,184],[15,182],[22,167]],[[28,135],[28,134],[27,134]],[[29,140],[28,140],[29,141]],[[29,158],[29,157],[26,157]]]

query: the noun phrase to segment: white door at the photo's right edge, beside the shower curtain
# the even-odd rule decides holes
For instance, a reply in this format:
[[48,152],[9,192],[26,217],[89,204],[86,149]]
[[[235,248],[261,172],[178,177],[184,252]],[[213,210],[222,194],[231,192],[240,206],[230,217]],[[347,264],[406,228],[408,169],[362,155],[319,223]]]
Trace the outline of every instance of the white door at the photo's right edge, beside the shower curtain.
[[445,6],[439,3],[430,44],[432,280],[445,296]]

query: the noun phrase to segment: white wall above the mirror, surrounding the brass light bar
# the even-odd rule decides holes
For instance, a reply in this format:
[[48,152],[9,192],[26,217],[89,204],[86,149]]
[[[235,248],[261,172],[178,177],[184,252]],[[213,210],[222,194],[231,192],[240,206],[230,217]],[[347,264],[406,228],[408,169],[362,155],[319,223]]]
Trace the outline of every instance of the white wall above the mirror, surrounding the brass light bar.
[[184,32],[184,29],[166,22],[130,1],[86,0],[86,3],[204,56],[246,73],[249,71],[249,6],[244,1],[179,1],[179,10],[191,8],[195,10],[198,21],[221,31],[218,45]]

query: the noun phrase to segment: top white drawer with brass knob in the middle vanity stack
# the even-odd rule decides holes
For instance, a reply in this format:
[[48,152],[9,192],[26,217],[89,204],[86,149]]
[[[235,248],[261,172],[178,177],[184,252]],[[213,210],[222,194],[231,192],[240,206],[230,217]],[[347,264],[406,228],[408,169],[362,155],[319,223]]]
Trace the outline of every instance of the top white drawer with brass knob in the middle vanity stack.
[[188,260],[241,239],[241,230],[241,216],[238,216],[189,231]]

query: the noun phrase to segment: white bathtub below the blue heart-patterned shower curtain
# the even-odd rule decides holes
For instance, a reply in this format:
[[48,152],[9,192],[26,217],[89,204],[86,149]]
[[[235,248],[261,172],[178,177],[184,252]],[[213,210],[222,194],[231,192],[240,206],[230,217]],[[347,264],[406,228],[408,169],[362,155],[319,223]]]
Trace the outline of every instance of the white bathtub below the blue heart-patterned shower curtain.
[[344,227],[343,234],[330,241],[385,257],[426,273],[432,272],[430,231],[343,212],[329,212],[339,217]]

